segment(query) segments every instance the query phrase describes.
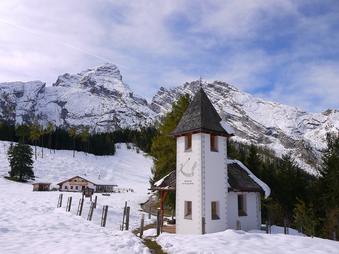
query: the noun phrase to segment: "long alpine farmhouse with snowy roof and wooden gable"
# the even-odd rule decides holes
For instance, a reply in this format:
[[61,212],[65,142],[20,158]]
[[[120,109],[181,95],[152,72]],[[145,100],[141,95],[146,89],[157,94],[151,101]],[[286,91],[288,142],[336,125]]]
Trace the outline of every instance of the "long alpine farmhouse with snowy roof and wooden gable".
[[69,178],[61,183],[58,183],[60,191],[76,191],[81,192],[85,188],[92,188],[95,192],[113,192],[117,184],[111,183],[105,179],[98,177],[77,175]]

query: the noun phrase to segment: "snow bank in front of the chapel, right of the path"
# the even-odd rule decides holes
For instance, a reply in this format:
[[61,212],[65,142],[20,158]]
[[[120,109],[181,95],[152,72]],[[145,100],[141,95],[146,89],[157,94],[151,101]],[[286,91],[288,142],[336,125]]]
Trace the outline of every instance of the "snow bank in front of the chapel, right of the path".
[[[329,254],[339,253],[339,242],[298,235],[290,229],[284,235],[283,228],[272,227],[266,231],[250,232],[226,230],[205,235],[179,235],[162,233],[157,237],[162,249],[171,254]],[[255,232],[253,232],[255,231]],[[291,232],[292,231],[292,232]]]

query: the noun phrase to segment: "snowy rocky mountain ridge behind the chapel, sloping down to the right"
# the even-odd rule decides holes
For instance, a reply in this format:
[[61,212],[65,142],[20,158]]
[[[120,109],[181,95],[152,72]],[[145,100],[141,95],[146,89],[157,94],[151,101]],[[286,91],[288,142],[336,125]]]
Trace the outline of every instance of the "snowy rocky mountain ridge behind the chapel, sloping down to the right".
[[[237,140],[273,148],[278,155],[291,150],[299,160],[301,155],[307,159],[319,159],[321,150],[326,147],[326,132],[339,130],[338,110],[309,113],[260,99],[220,80],[202,82],[202,88],[221,118],[235,130]],[[199,81],[186,82],[170,89],[161,87],[148,107],[164,114],[180,95],[188,93],[194,96],[198,89]],[[310,166],[305,167],[311,169]]]

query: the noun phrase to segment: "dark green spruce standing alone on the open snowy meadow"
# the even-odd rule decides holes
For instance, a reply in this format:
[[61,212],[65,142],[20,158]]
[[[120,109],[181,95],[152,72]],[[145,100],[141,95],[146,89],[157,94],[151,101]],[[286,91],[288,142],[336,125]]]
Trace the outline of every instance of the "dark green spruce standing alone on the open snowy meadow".
[[[13,149],[8,149],[11,156],[8,156],[11,171],[8,171],[10,177],[23,179],[34,179],[33,172],[33,149],[27,144],[17,144]],[[7,153],[8,153],[7,152]],[[9,154],[8,154],[9,155]]]

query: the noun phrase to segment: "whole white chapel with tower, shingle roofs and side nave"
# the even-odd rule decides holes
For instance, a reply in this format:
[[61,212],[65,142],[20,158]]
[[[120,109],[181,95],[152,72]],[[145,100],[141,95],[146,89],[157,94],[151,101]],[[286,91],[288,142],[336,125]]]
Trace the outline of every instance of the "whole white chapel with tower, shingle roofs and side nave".
[[237,229],[236,221],[243,231],[261,228],[260,193],[267,197],[270,189],[227,156],[226,138],[234,133],[202,89],[170,133],[177,138],[177,170],[150,190],[160,191],[161,200],[176,191],[177,234]]

